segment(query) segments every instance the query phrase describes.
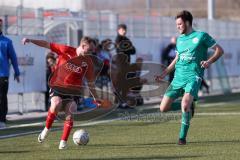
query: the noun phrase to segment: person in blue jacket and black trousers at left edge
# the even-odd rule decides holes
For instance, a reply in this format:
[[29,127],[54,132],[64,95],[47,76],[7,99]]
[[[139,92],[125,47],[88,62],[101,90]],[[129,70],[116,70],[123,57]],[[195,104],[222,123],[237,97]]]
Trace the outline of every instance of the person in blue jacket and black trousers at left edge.
[[20,82],[17,56],[12,41],[3,35],[2,26],[3,20],[0,19],[0,128],[6,126],[6,116],[8,112],[9,60],[15,72],[14,80]]

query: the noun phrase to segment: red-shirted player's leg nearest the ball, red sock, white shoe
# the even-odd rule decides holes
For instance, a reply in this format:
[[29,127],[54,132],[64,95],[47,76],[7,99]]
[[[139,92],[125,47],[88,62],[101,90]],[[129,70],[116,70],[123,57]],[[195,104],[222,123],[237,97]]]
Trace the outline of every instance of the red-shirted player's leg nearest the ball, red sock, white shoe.
[[63,133],[61,136],[59,149],[65,149],[67,147],[67,140],[73,127],[72,114],[76,112],[76,109],[77,109],[77,104],[74,100],[67,102],[67,104],[65,105],[64,112],[66,117],[64,121]]

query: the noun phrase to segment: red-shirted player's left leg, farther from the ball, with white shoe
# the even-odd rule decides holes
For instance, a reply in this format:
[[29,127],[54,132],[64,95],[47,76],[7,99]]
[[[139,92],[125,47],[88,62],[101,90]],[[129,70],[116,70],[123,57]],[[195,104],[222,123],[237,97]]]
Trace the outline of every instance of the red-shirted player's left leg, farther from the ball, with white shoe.
[[42,143],[44,139],[47,137],[50,128],[59,112],[59,109],[62,106],[62,98],[59,96],[51,97],[51,106],[48,110],[48,115],[46,118],[46,124],[42,132],[38,136],[38,142]]

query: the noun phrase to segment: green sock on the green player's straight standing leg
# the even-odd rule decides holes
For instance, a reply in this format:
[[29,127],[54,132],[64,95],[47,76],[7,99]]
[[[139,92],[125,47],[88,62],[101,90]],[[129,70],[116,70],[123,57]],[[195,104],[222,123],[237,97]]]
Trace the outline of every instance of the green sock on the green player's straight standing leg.
[[190,126],[190,112],[182,112],[182,124],[179,133],[179,139],[186,139],[188,128]]

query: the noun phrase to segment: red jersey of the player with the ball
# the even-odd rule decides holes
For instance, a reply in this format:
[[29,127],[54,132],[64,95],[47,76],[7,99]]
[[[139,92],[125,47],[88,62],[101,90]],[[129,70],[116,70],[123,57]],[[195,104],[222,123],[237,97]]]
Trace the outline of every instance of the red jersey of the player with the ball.
[[94,67],[90,55],[78,56],[76,48],[50,43],[51,51],[58,54],[58,61],[49,85],[63,94],[79,94],[83,78],[93,82]]

